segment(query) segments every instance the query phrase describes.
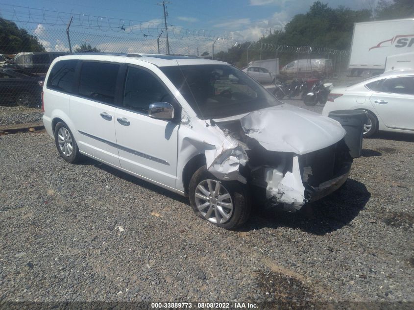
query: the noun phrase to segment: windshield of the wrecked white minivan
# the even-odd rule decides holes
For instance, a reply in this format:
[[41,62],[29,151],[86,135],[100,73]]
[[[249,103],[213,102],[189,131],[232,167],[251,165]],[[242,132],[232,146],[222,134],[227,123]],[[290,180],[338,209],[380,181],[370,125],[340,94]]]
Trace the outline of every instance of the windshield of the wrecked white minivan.
[[200,119],[216,119],[282,104],[247,74],[230,65],[160,68]]

